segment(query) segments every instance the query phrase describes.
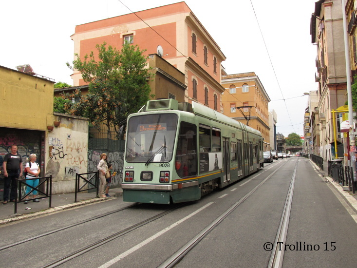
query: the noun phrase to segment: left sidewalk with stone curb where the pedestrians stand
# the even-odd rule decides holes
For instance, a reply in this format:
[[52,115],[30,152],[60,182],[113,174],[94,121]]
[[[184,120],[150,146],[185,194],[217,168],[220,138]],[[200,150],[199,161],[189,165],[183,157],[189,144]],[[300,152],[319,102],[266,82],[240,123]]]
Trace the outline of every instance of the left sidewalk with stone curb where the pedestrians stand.
[[[6,205],[0,204],[0,225],[18,220],[23,220],[31,217],[36,217],[43,214],[48,214],[56,211],[71,209],[78,206],[83,206],[89,203],[100,202],[107,199],[122,196],[121,188],[113,188],[109,190],[109,198],[96,198],[96,192],[78,192],[77,202],[75,203],[75,193],[63,193],[52,195],[52,208],[49,208],[50,199],[39,199],[39,203],[29,201],[28,204],[23,202],[18,203],[18,213],[15,215],[15,203],[8,202]],[[30,210],[25,210],[31,208]]]

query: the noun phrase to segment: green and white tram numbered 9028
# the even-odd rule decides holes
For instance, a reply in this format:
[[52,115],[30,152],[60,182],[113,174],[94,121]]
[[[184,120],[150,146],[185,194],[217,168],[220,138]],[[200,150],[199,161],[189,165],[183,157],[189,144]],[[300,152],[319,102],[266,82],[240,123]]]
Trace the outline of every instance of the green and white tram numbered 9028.
[[128,117],[123,199],[200,199],[263,167],[261,133],[198,103],[148,101]]

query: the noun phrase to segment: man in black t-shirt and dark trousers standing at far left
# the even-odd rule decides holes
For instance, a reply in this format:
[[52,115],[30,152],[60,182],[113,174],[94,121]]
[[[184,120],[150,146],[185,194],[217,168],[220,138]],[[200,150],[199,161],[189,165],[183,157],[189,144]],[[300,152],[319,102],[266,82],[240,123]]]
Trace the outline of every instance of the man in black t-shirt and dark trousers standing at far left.
[[9,200],[9,190],[10,191],[10,202],[15,202],[17,196],[17,179],[22,176],[22,157],[18,153],[18,146],[11,146],[11,153],[8,153],[4,157],[4,162],[2,163],[4,169],[4,202],[6,205]]

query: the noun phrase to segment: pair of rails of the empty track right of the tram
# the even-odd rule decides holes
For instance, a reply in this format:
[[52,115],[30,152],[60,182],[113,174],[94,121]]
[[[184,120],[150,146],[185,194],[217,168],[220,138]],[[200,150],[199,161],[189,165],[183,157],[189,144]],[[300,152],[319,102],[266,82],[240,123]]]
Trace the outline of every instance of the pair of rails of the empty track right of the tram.
[[[223,212],[220,216],[218,216],[204,230],[202,230],[194,238],[192,238],[186,245],[184,245],[181,249],[177,250],[165,262],[163,262],[161,265],[159,265],[158,268],[170,268],[170,267],[174,267],[177,263],[179,263],[181,261],[181,259],[184,258],[184,256],[191,249],[193,249],[202,239],[204,239],[210,233],[210,231],[214,230],[230,213],[232,213],[235,209],[237,209],[247,198],[249,198],[249,196],[251,196],[255,191],[257,191],[268,179],[270,179],[276,172],[278,172],[286,163],[287,162],[283,163],[278,169],[276,169],[269,176],[267,176],[261,183],[259,183],[256,187],[254,187],[251,191],[249,191],[241,199],[239,199],[236,203],[234,203],[230,208],[228,208],[225,212]],[[296,169],[297,169],[297,163],[295,166],[292,182],[290,184],[290,189],[292,188],[292,190],[289,189],[289,192],[291,192],[291,198],[289,199],[290,205],[291,205],[292,191],[293,191],[293,180],[295,181],[295,173],[296,173]],[[290,196],[290,194],[288,194],[288,197],[289,196]],[[288,211],[287,211],[287,209],[288,209]],[[285,215],[285,217],[287,217],[287,220],[288,220],[288,215],[290,213],[290,207],[287,205],[287,201],[285,201],[284,211],[286,211],[286,213],[283,212],[282,217],[284,217],[284,215]],[[285,227],[285,229],[282,229],[283,227]],[[282,231],[282,230],[284,230],[284,231]],[[280,235],[281,233],[285,233],[285,238],[286,238],[286,232],[287,232],[286,218],[284,218],[284,220],[281,220],[281,224],[278,229],[279,235],[277,234],[277,239],[279,239],[279,240],[277,240],[277,241],[280,241],[280,239],[283,238],[282,235]],[[275,255],[274,255],[274,257],[275,257]],[[274,257],[271,257],[271,258],[275,259]],[[273,267],[277,267],[277,266],[273,266]]]

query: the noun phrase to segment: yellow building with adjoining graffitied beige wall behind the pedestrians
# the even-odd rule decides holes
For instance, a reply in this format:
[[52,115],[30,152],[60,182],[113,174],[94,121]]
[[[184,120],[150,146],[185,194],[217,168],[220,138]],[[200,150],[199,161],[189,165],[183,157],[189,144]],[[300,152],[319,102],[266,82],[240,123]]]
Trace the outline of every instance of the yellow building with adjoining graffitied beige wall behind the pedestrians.
[[88,120],[53,112],[54,84],[29,65],[21,72],[0,66],[0,178],[4,156],[16,144],[23,168],[31,153],[38,156],[40,176],[52,175],[53,194],[74,192],[75,172],[88,170]]

